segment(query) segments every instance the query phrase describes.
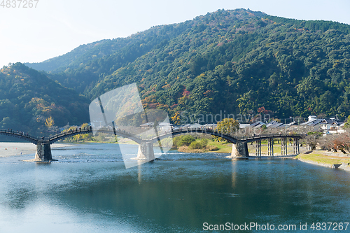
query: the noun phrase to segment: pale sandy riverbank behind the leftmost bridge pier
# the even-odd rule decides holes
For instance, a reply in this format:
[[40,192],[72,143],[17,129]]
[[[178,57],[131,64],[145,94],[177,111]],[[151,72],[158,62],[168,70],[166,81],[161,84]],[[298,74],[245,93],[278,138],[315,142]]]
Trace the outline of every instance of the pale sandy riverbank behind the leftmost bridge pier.
[[[72,144],[55,143],[51,145],[51,148],[62,148],[66,146],[73,146]],[[13,155],[28,155],[34,154],[36,145],[33,143],[11,143],[0,142],[0,157],[7,157]]]

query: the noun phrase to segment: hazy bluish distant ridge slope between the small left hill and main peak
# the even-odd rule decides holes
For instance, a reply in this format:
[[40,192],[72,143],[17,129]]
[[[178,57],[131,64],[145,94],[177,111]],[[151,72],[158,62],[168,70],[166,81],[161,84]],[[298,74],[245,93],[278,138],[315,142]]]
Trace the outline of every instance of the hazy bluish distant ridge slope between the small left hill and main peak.
[[190,22],[171,30],[169,28],[172,26],[169,25],[156,26],[127,38],[80,45],[66,55],[26,65],[33,69],[49,71],[50,77],[62,85],[87,94],[99,78],[108,76],[155,48],[162,48],[170,39],[176,38],[191,27]]

